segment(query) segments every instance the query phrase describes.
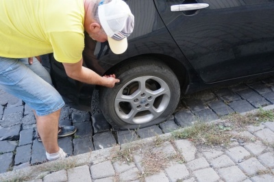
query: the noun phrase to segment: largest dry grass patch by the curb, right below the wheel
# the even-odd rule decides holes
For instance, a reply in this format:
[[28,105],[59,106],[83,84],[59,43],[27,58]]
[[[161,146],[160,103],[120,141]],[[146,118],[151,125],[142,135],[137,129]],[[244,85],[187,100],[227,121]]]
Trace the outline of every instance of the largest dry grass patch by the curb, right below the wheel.
[[195,142],[195,144],[217,145],[228,144],[230,142],[230,138],[232,138],[233,135],[227,132],[227,130],[230,129],[222,125],[208,122],[195,122],[192,127],[174,131],[172,135],[175,138],[188,139]]

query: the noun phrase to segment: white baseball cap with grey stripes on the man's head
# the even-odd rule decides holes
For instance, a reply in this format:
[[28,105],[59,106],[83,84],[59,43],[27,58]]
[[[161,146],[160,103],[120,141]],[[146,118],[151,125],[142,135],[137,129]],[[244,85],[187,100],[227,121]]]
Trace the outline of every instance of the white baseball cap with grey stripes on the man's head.
[[108,36],[110,49],[115,54],[127,50],[127,37],[134,29],[134,15],[125,1],[112,0],[105,3],[101,0],[98,6],[98,15],[101,26]]

